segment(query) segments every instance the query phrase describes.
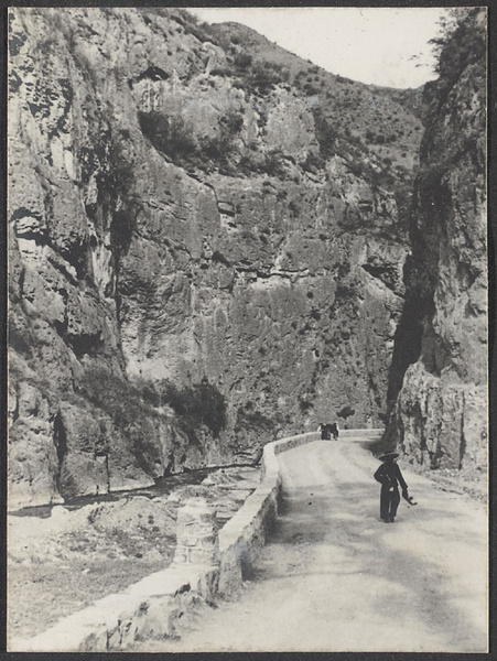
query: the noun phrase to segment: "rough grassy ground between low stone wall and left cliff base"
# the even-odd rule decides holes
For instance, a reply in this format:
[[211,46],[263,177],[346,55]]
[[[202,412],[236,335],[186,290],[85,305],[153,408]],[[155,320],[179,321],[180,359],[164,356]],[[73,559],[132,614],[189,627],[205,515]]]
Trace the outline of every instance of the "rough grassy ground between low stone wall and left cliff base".
[[82,499],[9,516],[9,641],[41,635],[165,570],[173,561],[183,503],[202,495],[222,529],[257,488],[260,474],[260,467],[219,468],[199,483],[196,476],[192,484],[180,476],[172,489],[161,485],[112,500]]

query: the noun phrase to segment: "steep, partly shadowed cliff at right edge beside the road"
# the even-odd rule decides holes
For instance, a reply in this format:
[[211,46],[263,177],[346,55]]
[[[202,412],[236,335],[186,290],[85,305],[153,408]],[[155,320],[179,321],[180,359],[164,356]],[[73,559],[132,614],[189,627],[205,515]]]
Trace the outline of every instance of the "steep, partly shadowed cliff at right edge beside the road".
[[[441,54],[421,144],[385,441],[431,468],[487,454],[485,10]],[[402,380],[403,379],[403,380]]]

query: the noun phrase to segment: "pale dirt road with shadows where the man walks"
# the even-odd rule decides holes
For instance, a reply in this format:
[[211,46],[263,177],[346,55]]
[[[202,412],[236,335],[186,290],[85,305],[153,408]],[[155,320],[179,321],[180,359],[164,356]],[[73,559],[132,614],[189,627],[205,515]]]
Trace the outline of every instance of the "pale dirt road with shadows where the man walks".
[[359,444],[280,459],[282,508],[251,581],[150,651],[486,651],[485,506],[401,465],[418,506],[402,500],[387,524],[378,462]]

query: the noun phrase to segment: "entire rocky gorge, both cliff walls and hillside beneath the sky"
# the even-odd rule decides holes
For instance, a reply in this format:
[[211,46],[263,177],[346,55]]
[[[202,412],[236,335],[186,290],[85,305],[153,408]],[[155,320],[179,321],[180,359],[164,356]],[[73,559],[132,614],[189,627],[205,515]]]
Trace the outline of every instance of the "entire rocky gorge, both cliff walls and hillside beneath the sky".
[[335,419],[485,470],[484,21],[397,90],[181,9],[10,10],[10,508]]

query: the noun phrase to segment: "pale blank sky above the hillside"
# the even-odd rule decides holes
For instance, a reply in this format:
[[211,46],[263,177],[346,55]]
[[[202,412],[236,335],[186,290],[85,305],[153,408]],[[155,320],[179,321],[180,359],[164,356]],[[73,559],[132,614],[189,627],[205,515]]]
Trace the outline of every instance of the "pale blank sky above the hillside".
[[437,33],[442,8],[248,7],[188,11],[208,23],[244,23],[304,59],[361,83],[419,87],[436,77],[428,42]]

